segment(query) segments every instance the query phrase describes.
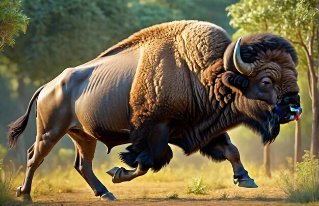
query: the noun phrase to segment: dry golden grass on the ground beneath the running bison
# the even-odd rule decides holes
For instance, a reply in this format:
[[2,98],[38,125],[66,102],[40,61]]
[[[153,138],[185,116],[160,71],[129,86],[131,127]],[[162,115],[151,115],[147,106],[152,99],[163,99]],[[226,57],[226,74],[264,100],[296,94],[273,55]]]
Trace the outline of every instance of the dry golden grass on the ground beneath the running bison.
[[[73,168],[72,162],[58,165],[55,169],[46,168],[45,162],[36,171],[31,196],[36,202],[63,202],[97,200],[91,188],[81,175]],[[259,186],[257,189],[240,188],[233,185],[233,171],[229,162],[204,163],[201,167],[193,164],[180,164],[179,167],[168,166],[157,173],[147,174],[130,182],[112,184],[111,176],[105,173],[114,166],[126,165],[115,162],[95,165],[97,178],[118,199],[138,201],[275,201],[283,203],[285,186],[282,173],[293,176],[291,170],[280,167],[272,171],[272,178],[264,176],[263,167],[244,164],[250,176]],[[201,178],[194,178],[201,177]],[[19,172],[9,192],[15,199],[15,189],[23,182],[24,173]],[[188,188],[188,189],[187,189]],[[267,194],[267,195],[264,195]],[[185,203],[187,204],[187,203]],[[1,205],[1,204],[0,204]]]

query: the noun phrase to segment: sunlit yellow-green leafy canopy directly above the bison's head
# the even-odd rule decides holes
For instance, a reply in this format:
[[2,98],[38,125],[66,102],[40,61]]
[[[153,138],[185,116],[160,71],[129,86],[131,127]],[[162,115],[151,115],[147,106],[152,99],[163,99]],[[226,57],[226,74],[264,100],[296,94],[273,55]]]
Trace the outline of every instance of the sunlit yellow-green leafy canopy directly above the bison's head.
[[228,15],[231,16],[229,23],[238,29],[233,37],[238,38],[258,32],[271,32],[283,36],[297,47],[300,62],[303,63],[299,67],[307,68],[302,44],[305,40],[309,40],[314,32],[317,19],[315,7],[312,8],[315,1],[310,1],[310,5],[308,2],[303,0],[270,2],[242,0],[231,5],[226,8]]

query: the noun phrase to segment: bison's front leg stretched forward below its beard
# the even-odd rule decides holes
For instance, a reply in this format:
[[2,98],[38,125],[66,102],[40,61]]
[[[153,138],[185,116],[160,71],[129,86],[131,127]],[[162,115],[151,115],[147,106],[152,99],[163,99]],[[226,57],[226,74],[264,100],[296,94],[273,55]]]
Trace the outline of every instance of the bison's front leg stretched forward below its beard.
[[238,186],[246,188],[258,187],[248,175],[241,162],[240,153],[236,146],[231,143],[227,133],[212,139],[206,146],[200,149],[200,153],[216,162],[227,159],[234,171],[234,184],[238,183]]

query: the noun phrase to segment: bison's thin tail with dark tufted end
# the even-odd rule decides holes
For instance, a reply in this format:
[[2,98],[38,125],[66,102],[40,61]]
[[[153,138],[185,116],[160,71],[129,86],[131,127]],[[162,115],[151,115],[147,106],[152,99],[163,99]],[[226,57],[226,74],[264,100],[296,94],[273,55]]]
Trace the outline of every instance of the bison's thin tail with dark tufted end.
[[38,97],[41,90],[44,88],[45,85],[41,86],[33,95],[29,102],[28,109],[26,110],[25,114],[17,119],[15,122],[8,125],[10,128],[7,133],[9,149],[13,149],[17,144],[18,137],[24,132],[26,125],[28,124],[28,119],[31,111],[32,104],[34,100]]

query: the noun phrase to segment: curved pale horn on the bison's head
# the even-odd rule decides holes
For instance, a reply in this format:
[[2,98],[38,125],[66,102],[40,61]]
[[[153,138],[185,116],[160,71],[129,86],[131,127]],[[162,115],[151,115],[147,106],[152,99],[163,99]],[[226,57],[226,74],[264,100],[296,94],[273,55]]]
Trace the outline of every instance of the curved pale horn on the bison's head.
[[254,66],[252,63],[243,62],[241,53],[240,53],[241,41],[242,41],[242,37],[240,37],[236,42],[236,45],[234,48],[233,61],[238,72],[249,76],[249,75],[252,75]]

